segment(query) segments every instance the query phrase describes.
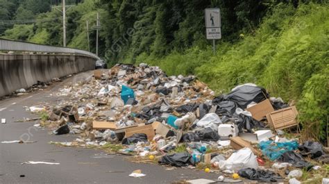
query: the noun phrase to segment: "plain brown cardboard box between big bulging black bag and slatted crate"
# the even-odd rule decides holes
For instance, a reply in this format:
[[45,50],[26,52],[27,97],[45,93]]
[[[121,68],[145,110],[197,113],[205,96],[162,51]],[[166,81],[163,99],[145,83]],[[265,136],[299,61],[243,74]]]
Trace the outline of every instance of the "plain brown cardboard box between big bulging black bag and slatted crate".
[[253,119],[260,121],[262,117],[274,111],[273,106],[269,99],[266,99],[260,103],[257,103],[255,106],[247,108],[251,115],[253,115]]

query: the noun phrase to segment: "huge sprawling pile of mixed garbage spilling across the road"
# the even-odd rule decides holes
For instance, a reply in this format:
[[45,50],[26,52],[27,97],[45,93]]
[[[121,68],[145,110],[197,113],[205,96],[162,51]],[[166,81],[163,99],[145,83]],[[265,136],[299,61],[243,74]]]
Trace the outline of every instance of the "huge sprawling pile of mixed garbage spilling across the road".
[[[287,139],[298,112],[253,83],[215,96],[195,76],[167,76],[144,63],[95,70],[89,81],[52,94],[68,97],[47,110],[53,134],[78,134],[63,146],[116,147],[160,165],[197,167],[225,178],[276,182],[321,168],[319,142]],[[314,165],[314,162],[317,163]]]

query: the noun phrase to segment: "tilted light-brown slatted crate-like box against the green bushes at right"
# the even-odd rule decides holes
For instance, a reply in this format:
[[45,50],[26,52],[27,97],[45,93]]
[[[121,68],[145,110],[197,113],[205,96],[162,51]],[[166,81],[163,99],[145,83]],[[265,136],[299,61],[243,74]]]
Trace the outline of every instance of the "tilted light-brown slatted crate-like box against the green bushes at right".
[[282,108],[266,115],[269,124],[276,130],[296,126],[298,112],[296,106]]

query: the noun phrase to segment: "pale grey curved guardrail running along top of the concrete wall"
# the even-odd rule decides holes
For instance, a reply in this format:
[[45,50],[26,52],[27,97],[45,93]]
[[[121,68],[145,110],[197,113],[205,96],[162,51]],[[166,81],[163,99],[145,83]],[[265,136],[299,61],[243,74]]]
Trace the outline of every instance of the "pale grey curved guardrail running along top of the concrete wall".
[[100,60],[96,54],[80,49],[72,49],[67,47],[53,47],[44,44],[33,44],[30,42],[22,42],[15,40],[6,40],[0,38],[0,51],[29,51],[29,52],[45,52],[45,53],[69,53],[90,56]]

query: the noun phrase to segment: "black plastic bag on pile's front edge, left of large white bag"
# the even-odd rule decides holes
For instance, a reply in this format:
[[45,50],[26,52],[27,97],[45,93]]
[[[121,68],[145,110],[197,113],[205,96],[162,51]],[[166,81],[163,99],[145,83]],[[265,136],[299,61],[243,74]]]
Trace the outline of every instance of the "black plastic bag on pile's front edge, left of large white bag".
[[163,156],[159,161],[159,164],[171,165],[174,167],[182,167],[188,165],[194,165],[194,160],[189,153],[173,153]]

